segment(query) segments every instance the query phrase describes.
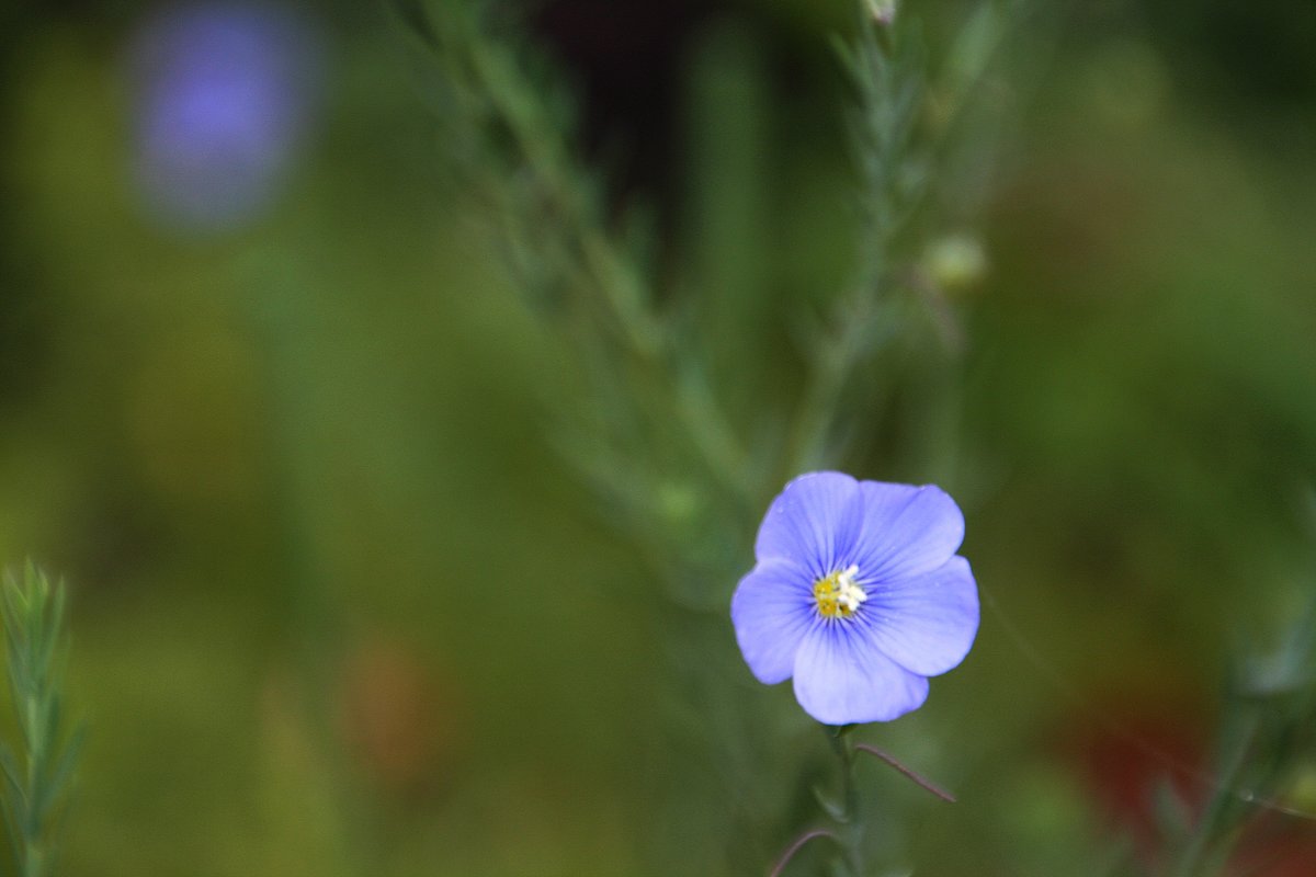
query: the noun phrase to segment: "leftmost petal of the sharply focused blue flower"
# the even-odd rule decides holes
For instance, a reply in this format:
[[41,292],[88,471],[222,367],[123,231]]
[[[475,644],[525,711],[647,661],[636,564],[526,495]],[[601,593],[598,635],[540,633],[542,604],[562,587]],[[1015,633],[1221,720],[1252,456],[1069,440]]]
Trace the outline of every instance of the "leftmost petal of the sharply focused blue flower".
[[732,597],[732,625],[745,663],[761,682],[784,682],[815,618],[813,580],[790,560],[758,564]]

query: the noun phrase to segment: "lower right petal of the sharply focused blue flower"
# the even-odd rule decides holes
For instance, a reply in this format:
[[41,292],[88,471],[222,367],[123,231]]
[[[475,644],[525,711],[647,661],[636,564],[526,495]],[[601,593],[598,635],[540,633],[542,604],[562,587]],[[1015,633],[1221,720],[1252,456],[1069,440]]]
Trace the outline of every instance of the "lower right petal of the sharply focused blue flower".
[[937,676],[965,660],[978,613],[974,573],[955,556],[930,573],[871,588],[861,614],[888,657],[920,676]]

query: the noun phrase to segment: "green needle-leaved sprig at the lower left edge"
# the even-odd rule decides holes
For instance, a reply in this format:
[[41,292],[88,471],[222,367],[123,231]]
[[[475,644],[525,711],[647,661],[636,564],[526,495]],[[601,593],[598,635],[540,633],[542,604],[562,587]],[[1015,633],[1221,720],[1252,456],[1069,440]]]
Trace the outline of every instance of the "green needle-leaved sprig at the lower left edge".
[[7,573],[3,605],[9,694],[20,744],[0,747],[5,827],[18,877],[54,873],[62,815],[68,803],[83,730],[63,713],[64,588],[30,561],[22,579]]

